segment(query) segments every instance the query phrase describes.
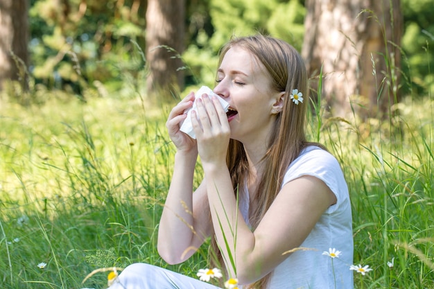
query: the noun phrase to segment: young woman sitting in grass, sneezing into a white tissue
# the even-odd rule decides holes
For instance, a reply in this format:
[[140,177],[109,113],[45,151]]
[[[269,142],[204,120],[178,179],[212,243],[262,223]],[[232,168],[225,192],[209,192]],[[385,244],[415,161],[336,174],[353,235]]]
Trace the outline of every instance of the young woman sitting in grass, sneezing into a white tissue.
[[[220,53],[214,93],[229,112],[215,96],[197,98],[197,139],[180,131],[193,94],[168,116],[177,152],[159,254],[182,263],[211,236],[225,278],[238,279],[240,288],[353,288],[347,184],[338,161],[306,141],[308,86],[299,53],[265,35],[234,38]],[[192,193],[198,156],[205,177]],[[331,248],[341,253],[323,253]],[[117,281],[125,288],[216,288],[141,263]]]

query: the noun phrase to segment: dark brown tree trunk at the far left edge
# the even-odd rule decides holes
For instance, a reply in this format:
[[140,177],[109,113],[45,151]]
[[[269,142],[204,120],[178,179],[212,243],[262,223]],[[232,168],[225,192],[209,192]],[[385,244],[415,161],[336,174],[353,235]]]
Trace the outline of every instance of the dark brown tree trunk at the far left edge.
[[0,90],[5,80],[27,88],[27,14],[27,0],[0,0]]

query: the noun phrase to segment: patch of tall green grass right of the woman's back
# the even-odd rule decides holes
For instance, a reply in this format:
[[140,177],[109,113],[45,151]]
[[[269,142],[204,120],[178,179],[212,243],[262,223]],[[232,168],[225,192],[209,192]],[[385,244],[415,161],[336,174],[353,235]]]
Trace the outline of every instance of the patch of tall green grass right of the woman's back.
[[356,288],[434,288],[434,103],[406,98],[399,107],[400,133],[377,120],[364,137],[346,122],[322,132],[349,184],[354,263],[373,269],[355,276]]

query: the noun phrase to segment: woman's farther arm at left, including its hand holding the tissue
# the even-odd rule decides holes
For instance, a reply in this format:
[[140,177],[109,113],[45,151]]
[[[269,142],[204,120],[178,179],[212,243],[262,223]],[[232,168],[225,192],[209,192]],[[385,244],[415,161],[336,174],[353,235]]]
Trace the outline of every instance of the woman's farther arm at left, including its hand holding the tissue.
[[209,207],[205,185],[193,193],[193,175],[198,158],[196,141],[180,132],[184,112],[193,104],[189,94],[173,107],[166,127],[177,148],[171,186],[159,222],[157,249],[170,264],[188,259],[209,236]]

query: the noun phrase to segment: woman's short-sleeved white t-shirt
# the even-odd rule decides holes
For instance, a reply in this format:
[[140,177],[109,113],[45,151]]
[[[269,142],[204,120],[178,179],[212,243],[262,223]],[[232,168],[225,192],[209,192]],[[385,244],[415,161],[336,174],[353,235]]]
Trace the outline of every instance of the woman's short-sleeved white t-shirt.
[[[325,211],[298,250],[288,256],[271,273],[269,289],[352,289],[353,231],[348,186],[338,161],[329,152],[316,146],[302,151],[290,164],[284,184],[297,177],[311,175],[327,184],[337,202]],[[240,211],[248,220],[249,194],[245,189],[240,198]],[[290,204],[288,204],[288,208]],[[341,254],[331,259],[322,252],[335,248]],[[334,269],[334,270],[333,270]],[[336,286],[335,286],[336,280]]]

